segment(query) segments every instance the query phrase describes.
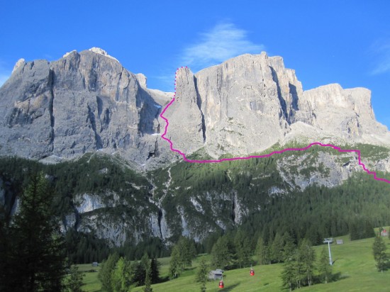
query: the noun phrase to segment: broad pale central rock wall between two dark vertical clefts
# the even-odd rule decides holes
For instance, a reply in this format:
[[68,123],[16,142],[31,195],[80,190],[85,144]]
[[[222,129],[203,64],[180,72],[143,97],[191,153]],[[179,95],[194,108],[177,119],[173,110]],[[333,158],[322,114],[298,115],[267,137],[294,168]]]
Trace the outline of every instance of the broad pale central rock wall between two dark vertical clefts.
[[196,74],[212,156],[248,155],[289,132],[290,106],[269,59],[265,53],[242,55]]

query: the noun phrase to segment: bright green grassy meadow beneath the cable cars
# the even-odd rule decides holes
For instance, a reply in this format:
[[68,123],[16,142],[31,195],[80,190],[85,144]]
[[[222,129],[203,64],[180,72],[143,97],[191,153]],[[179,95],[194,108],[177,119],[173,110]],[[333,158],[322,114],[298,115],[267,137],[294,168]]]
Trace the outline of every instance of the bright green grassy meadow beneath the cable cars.
[[[389,228],[386,228],[389,230]],[[343,245],[336,245],[335,241],[330,245],[332,251],[333,274],[338,274],[340,279],[331,283],[315,284],[311,287],[301,288],[299,291],[390,291],[390,270],[383,274],[379,273],[375,267],[374,257],[372,256],[372,243],[374,238],[365,240],[350,241],[349,236],[337,237],[342,239]],[[384,238],[386,246],[390,251],[390,240]],[[321,249],[327,245],[314,247],[319,258]],[[152,285],[153,291],[200,291],[199,283],[196,283],[196,267],[199,264],[199,256],[194,260],[193,267],[186,269],[177,279],[165,281]],[[204,255],[208,259],[208,255]],[[162,264],[160,276],[167,277],[169,268],[169,258],[159,259]],[[280,274],[282,264],[271,264],[264,266],[253,266],[255,276],[250,276],[250,268],[235,269],[225,271],[223,282],[225,288],[218,288],[218,281],[208,281],[207,291],[287,291],[282,288]],[[79,270],[86,274],[84,278],[84,291],[101,291],[100,282],[97,279],[97,272],[89,272],[91,264],[79,265]],[[143,291],[143,287],[133,288],[132,291]]]

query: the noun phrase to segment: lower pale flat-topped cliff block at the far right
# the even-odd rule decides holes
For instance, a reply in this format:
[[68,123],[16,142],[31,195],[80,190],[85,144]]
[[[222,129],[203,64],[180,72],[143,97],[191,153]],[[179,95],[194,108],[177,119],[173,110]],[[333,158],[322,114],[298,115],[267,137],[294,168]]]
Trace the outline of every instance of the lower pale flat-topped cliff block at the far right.
[[342,89],[339,84],[320,86],[303,92],[299,108],[311,117],[306,123],[324,134],[354,142],[390,145],[389,131],[375,120],[368,89]]

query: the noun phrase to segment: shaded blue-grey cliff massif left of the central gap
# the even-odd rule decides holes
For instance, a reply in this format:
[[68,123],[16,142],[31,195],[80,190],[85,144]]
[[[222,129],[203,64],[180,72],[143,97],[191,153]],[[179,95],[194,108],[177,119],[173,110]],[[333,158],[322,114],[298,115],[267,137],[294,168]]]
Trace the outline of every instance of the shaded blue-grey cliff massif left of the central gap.
[[1,155],[72,158],[101,150],[138,164],[159,155],[158,115],[167,94],[150,91],[142,74],[103,52],[18,61],[0,90]]

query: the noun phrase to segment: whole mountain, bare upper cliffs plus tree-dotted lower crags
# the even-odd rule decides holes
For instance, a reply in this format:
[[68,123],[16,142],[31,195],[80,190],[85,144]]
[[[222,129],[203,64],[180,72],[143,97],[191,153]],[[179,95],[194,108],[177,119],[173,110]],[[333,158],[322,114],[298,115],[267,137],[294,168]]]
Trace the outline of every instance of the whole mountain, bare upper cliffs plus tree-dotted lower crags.
[[[0,204],[17,212],[23,179],[16,176],[38,160],[57,186],[64,230],[92,232],[110,245],[151,236],[201,241],[263,214],[279,197],[348,193],[355,177],[364,182],[355,152],[321,147],[245,162],[182,162],[161,137],[160,113],[173,96],[148,89],[143,74],[96,47],[53,62],[19,60],[0,88],[0,159],[10,164],[0,172]],[[264,52],[196,74],[178,69],[164,116],[166,137],[194,158],[319,141],[353,145],[370,170],[390,172],[390,132],[375,120],[368,89],[303,91],[294,70]],[[12,155],[30,160],[16,167],[4,158]]]

